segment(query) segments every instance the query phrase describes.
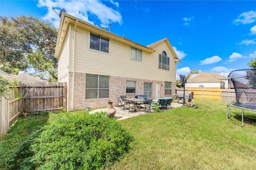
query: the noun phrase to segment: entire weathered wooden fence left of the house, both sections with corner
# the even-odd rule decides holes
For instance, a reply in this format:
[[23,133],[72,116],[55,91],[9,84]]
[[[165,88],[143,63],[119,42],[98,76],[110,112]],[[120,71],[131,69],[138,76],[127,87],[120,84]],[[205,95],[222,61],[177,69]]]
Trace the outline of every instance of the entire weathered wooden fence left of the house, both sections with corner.
[[0,138],[9,130],[22,112],[59,112],[66,110],[67,83],[20,81],[12,89],[10,100],[1,98]]

